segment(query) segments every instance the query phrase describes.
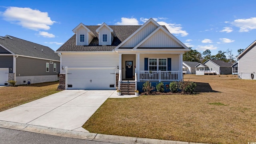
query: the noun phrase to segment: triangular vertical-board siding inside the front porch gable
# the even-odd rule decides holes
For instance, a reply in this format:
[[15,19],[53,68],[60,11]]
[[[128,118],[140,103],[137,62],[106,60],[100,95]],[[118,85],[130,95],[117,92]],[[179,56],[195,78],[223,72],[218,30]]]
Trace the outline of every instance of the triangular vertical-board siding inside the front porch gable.
[[158,30],[148,40],[139,46],[139,48],[182,48],[178,42],[168,36],[164,31]]

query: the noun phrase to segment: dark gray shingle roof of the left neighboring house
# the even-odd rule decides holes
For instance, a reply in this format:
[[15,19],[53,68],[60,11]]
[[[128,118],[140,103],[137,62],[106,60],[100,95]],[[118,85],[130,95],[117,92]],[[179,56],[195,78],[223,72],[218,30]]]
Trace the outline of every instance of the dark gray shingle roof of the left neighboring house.
[[32,56],[36,58],[45,58],[50,60],[60,60],[58,54],[54,53],[54,50],[52,50],[48,46],[43,46],[34,42],[22,40],[14,36],[10,37],[13,40],[10,38],[2,37],[3,39],[0,39],[0,44],[14,54]]

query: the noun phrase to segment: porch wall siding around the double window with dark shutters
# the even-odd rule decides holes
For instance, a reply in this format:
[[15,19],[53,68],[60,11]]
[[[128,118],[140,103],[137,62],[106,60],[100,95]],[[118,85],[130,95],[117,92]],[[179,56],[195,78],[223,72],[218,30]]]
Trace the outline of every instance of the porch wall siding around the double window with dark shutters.
[[172,71],[179,71],[179,54],[140,54],[140,70],[144,70],[144,58],[172,58]]

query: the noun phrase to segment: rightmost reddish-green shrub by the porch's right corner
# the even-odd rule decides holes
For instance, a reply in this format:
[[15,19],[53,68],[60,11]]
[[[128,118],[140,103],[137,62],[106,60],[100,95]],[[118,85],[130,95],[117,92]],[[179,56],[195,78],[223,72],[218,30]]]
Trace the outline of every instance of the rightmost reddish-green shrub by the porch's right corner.
[[179,89],[181,90],[182,94],[193,94],[195,88],[196,88],[195,82],[190,82],[190,81],[179,82]]

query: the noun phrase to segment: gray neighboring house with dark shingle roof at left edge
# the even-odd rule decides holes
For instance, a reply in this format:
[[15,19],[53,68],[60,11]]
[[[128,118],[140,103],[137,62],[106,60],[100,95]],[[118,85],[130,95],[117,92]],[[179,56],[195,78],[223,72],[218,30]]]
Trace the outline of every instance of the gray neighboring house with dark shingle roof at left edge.
[[0,86],[58,80],[60,56],[47,46],[14,36],[0,36]]

